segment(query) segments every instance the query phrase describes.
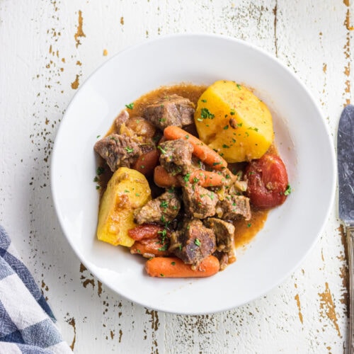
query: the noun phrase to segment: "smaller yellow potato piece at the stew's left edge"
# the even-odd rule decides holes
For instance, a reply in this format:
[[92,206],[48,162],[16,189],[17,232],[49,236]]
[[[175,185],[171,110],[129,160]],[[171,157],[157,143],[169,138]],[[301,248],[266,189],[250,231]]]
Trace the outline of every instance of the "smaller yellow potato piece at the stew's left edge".
[[120,167],[108,181],[98,212],[97,237],[113,245],[130,247],[134,244],[127,231],[137,226],[134,210],[151,199],[145,176],[133,169]]

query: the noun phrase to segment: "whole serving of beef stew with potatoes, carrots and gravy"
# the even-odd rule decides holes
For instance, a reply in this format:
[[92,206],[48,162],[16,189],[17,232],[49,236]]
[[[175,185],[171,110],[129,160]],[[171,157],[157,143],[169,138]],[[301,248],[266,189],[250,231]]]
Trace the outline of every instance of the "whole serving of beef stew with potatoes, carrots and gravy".
[[100,157],[97,236],[147,258],[147,274],[206,277],[290,193],[266,105],[217,81],[147,93],[115,118]]

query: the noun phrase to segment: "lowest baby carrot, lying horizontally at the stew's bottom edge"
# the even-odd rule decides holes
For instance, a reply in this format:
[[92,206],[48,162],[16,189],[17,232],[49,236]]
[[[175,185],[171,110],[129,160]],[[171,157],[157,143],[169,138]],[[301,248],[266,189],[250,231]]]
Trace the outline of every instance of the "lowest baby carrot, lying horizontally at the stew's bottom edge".
[[219,271],[219,260],[215,256],[203,259],[193,270],[178,257],[155,257],[145,263],[145,270],[151,277],[159,278],[202,278]]

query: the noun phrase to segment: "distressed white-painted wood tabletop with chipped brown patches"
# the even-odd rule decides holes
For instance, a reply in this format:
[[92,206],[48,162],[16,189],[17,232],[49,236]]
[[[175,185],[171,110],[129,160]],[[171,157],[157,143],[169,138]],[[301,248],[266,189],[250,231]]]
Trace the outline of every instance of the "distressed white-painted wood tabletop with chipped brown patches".
[[230,35],[275,55],[312,92],[336,142],[353,95],[353,21],[349,0],[0,0],[0,223],[74,353],[343,353],[348,266],[337,199],[318,243],[282,285],[231,311],[178,316],[122,299],[80,263],[55,215],[50,160],[89,74],[169,33]]

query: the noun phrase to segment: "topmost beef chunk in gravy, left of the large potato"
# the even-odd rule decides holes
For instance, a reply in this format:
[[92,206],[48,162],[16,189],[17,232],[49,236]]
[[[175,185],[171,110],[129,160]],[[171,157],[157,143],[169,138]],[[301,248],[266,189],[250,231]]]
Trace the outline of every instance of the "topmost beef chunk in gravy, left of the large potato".
[[193,123],[194,105],[178,95],[164,97],[144,110],[144,118],[164,130],[169,125],[183,127]]

